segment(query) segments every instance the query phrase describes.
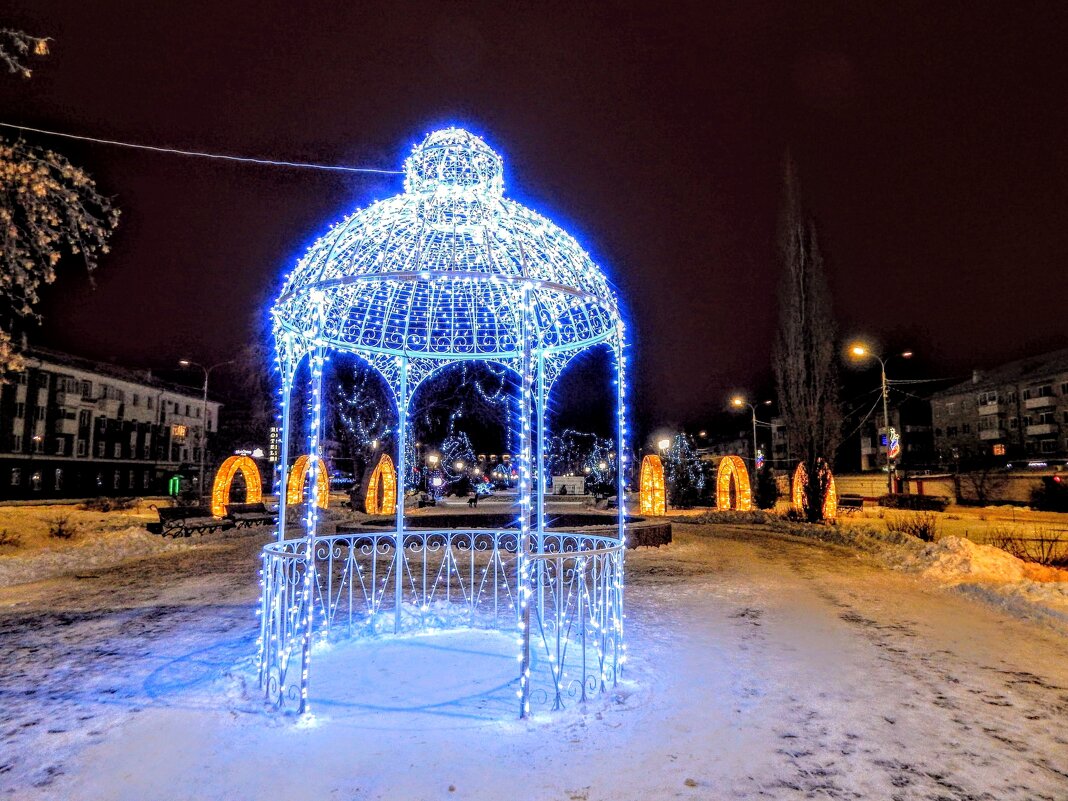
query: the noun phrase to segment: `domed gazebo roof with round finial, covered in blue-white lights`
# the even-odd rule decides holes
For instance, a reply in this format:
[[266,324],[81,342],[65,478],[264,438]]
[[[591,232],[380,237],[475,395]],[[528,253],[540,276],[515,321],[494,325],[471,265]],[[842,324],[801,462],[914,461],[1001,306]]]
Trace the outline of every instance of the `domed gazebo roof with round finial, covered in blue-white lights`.
[[276,335],[436,360],[513,359],[524,341],[571,354],[621,326],[615,294],[590,255],[504,198],[501,157],[459,128],[412,150],[402,194],[356,210],[312,245],[272,314]]

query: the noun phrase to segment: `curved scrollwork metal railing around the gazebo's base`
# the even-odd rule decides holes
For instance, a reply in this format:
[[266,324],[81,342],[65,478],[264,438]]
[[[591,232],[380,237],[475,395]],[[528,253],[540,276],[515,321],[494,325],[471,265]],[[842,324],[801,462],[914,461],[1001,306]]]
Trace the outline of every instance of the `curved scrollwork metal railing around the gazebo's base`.
[[[263,550],[260,684],[303,711],[311,646],[455,628],[516,631],[520,711],[613,686],[624,662],[623,544],[601,534],[348,532]],[[314,581],[305,581],[309,576]]]

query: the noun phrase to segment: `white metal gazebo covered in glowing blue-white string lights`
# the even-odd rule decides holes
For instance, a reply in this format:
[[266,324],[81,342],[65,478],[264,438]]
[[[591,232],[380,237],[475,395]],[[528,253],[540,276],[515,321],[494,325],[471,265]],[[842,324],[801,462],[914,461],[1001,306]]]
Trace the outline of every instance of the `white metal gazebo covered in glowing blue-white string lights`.
[[[352,354],[390,388],[394,467],[406,464],[410,399],[452,364],[503,365],[516,377],[519,508],[500,529],[425,530],[395,504],[391,531],[318,534],[308,460],[302,535],[263,553],[260,680],[272,704],[309,708],[312,645],[341,637],[474,627],[517,633],[520,716],[614,685],[624,662],[624,323],[582,247],[504,197],[501,157],[457,128],[430,134],[405,162],[403,193],[359,209],[311,246],[272,311],[281,374],[280,464],[290,429],[320,451],[324,364]],[[597,533],[546,525],[546,414],[568,362],[594,347],[614,357],[618,511]],[[307,402],[292,402],[307,365]],[[301,374],[303,375],[303,373]],[[403,492],[398,492],[402,494]]]

